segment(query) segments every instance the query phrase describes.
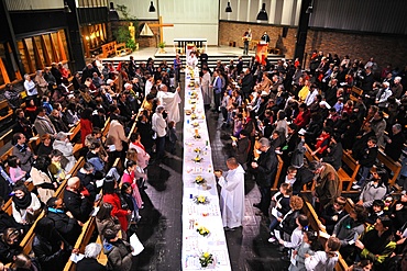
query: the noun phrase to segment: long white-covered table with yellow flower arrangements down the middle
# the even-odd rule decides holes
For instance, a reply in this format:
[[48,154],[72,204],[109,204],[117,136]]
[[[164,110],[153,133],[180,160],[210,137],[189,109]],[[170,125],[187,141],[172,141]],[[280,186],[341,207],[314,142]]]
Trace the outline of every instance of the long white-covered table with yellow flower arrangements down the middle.
[[[195,81],[199,82],[199,71],[194,71]],[[186,68],[185,75],[185,110],[184,110],[184,195],[183,195],[183,270],[202,270],[199,263],[199,257],[202,252],[213,255],[213,264],[207,270],[231,270],[228,246],[224,237],[221,213],[219,207],[219,197],[216,179],[213,176],[212,156],[210,149],[208,127],[204,110],[204,99],[200,88],[193,90],[189,87],[190,70]],[[191,99],[191,95],[197,99]],[[187,115],[187,111],[195,108],[196,120]],[[195,127],[194,125],[199,125]],[[200,138],[195,138],[198,133]],[[200,162],[194,161],[199,156]],[[195,183],[195,179],[200,176],[208,184],[207,190]],[[204,195],[208,199],[208,204],[196,204],[195,196]],[[210,234],[206,237],[197,233],[197,228],[204,226]]]

